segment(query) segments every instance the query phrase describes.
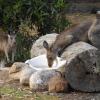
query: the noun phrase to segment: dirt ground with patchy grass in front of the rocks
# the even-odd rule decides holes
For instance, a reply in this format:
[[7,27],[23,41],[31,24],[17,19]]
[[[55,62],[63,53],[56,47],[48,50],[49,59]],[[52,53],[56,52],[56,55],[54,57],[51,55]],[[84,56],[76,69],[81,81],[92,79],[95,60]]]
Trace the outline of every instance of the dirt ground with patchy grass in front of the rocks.
[[10,80],[8,71],[0,71],[0,100],[100,100],[100,93],[33,93],[28,86]]

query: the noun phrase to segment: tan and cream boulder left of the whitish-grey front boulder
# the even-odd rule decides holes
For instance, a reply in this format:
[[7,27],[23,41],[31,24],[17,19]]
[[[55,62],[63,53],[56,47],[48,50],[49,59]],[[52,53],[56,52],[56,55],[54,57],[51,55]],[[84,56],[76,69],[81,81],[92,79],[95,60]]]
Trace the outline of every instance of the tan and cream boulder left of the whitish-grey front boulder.
[[11,79],[19,80],[20,84],[29,84],[30,76],[35,70],[29,67],[28,64],[22,62],[15,62],[9,69],[9,76]]

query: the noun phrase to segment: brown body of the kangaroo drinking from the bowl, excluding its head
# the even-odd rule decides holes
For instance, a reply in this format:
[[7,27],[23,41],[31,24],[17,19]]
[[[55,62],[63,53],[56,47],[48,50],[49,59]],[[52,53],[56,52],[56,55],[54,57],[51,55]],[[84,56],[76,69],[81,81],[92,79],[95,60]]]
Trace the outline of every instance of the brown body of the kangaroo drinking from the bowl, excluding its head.
[[85,21],[79,25],[74,25],[73,27],[61,32],[55,42],[52,44],[51,48],[55,51],[59,48],[67,47],[68,45],[77,41],[88,41],[88,30],[92,25],[92,21]]

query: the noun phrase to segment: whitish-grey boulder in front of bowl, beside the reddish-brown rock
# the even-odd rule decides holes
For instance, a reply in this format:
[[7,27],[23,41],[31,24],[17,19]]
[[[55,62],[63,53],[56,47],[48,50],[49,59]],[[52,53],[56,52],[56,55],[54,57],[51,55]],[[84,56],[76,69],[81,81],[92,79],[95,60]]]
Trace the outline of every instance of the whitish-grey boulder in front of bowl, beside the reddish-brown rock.
[[32,74],[30,77],[30,88],[33,91],[48,90],[48,82],[50,78],[58,76],[61,73],[55,70],[41,70]]

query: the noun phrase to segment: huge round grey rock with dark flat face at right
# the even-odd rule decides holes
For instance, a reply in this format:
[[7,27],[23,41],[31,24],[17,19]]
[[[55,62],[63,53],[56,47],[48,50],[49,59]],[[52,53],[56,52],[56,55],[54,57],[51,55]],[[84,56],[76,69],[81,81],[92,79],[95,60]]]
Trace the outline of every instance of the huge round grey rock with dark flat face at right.
[[100,91],[100,52],[84,43],[74,43],[62,54],[67,60],[65,78],[72,88],[85,92]]

